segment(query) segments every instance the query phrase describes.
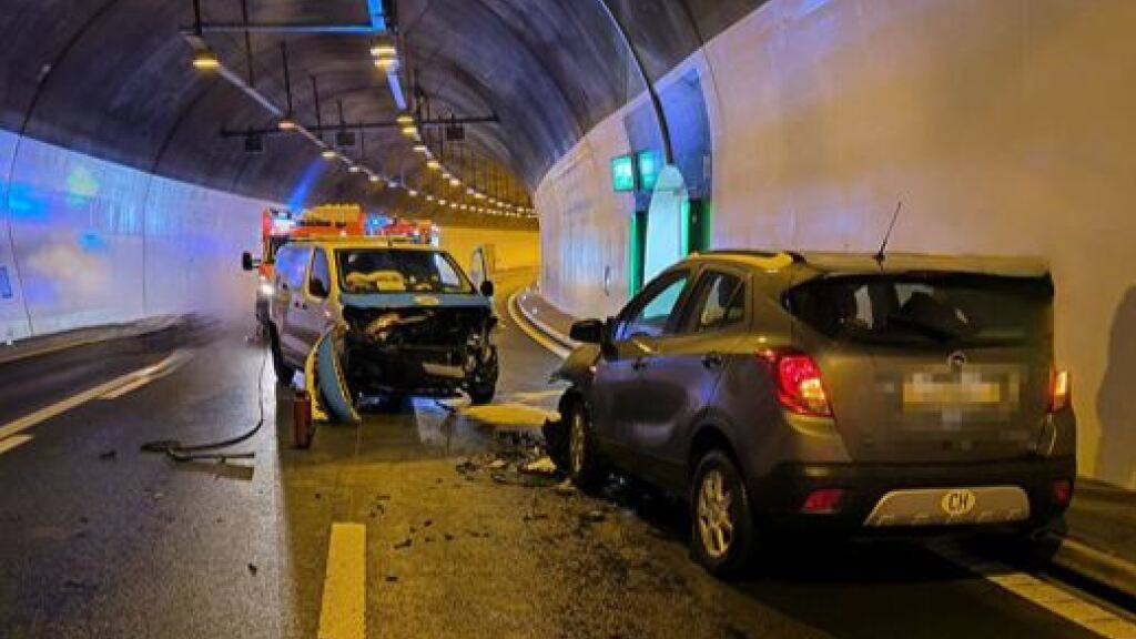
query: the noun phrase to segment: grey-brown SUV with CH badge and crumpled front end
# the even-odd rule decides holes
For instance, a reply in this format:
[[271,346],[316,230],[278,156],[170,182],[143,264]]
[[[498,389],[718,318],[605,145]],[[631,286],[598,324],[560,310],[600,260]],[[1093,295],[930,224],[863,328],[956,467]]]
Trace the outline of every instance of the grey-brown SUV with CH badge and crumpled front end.
[[767,528],[1031,533],[1076,476],[1052,304],[1039,260],[695,255],[573,326],[545,434],[584,488],[688,495],[718,574]]

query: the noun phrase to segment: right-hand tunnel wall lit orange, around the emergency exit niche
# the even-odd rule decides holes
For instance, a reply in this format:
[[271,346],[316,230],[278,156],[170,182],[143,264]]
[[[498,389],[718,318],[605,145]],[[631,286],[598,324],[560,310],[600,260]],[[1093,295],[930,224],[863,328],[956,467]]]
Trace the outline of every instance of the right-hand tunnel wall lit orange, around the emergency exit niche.
[[[711,114],[712,243],[874,251],[902,200],[894,250],[1049,258],[1080,470],[1136,487],[1133,25],[1131,2],[765,5],[684,63]],[[595,283],[625,268],[608,161],[629,150],[616,114],[537,189],[545,255],[570,256],[542,287],[573,314],[626,299]]]

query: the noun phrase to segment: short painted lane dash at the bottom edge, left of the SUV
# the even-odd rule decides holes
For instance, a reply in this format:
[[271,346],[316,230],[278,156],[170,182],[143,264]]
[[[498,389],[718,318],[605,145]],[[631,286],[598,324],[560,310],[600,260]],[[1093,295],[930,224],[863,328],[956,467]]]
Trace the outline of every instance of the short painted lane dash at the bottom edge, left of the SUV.
[[367,526],[332,524],[319,608],[319,639],[362,639],[367,634]]

